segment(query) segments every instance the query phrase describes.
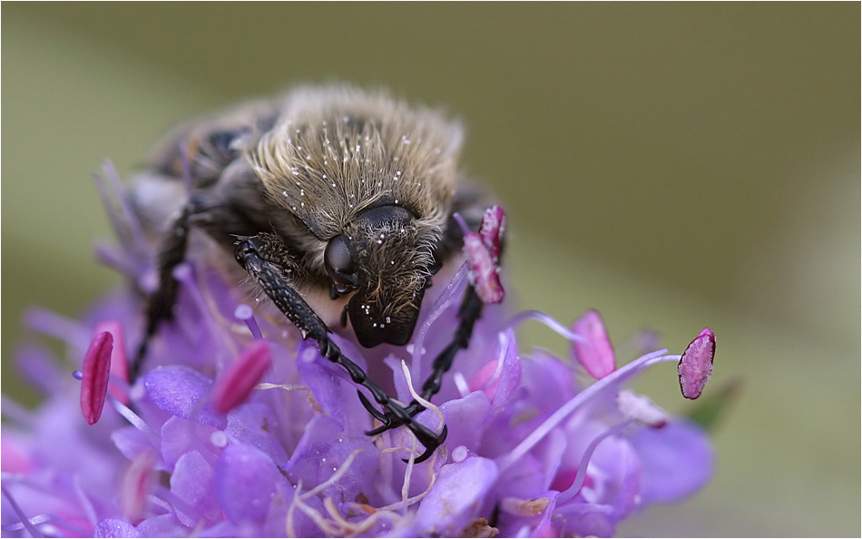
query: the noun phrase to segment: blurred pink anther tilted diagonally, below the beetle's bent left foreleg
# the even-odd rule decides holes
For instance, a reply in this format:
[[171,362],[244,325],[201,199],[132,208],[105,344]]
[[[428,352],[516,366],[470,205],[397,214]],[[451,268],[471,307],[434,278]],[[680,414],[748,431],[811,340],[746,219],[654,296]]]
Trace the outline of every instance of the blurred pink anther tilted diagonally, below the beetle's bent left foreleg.
[[212,397],[215,409],[226,414],[248,398],[270,365],[272,359],[265,340],[256,340],[242,350],[240,358],[221,371],[216,379]]

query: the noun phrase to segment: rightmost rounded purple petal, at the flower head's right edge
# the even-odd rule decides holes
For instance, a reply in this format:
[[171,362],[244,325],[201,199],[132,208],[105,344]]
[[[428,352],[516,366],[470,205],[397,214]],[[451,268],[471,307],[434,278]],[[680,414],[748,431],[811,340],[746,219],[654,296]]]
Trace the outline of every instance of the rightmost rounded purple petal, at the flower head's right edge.
[[644,504],[677,502],[693,494],[710,480],[715,465],[706,433],[679,421],[660,430],[639,429],[632,446],[641,457]]

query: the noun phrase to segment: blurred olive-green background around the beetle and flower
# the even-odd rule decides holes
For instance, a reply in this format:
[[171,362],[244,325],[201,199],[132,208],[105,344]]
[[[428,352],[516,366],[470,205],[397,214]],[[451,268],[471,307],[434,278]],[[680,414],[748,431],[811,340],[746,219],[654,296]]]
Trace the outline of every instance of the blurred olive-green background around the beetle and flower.
[[[628,535],[860,534],[859,19],[845,4],[2,6],[3,391],[29,305],[118,284],[92,173],[293,83],[387,86],[468,127],[509,288],[612,337],[718,335],[710,486]],[[531,326],[531,342],[563,343]],[[630,358],[624,358],[628,360]],[[76,359],[80,360],[80,359]],[[639,386],[685,411],[672,368]]]

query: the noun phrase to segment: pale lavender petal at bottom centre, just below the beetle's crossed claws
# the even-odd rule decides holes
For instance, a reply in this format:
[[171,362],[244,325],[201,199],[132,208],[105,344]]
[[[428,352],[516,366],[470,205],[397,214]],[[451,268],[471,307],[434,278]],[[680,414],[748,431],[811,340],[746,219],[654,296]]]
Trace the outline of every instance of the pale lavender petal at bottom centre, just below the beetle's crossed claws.
[[441,467],[416,511],[416,524],[429,535],[454,536],[475,518],[497,475],[495,462],[480,456]]

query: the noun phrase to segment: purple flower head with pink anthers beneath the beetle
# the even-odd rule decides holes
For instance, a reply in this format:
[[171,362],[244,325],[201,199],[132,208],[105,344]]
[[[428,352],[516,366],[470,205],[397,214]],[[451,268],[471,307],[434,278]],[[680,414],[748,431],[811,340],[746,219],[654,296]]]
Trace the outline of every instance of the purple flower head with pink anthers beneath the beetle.
[[[152,254],[122,203],[112,219],[124,250],[103,249],[103,259],[152,283]],[[495,259],[495,237],[479,241]],[[496,271],[483,271],[496,289]],[[334,339],[409,402],[411,384],[427,377],[457,326],[467,273],[426,298],[407,348]],[[675,361],[686,395],[699,392],[715,350],[709,329],[684,357],[659,350],[615,368],[593,311],[578,333],[541,313],[506,319],[502,306],[487,306],[470,348],[418,416],[437,431],[445,423],[446,443],[416,464],[421,448],[407,428],[364,434],[376,425],[348,374],[277,311],[252,313],[205,265],[192,261],[176,275],[179,315],[152,340],[131,387],[125,347],[140,339],[137,295],[108,296],[81,321],[28,317],[67,343],[83,373],[68,376],[45,348],[21,349],[24,374],[45,400],[34,411],[4,402],[4,534],[604,536],[710,478],[712,449],[700,428],[624,388],[644,368]],[[528,318],[576,343],[583,367],[518,348],[514,327]],[[583,368],[600,379],[584,383]]]

